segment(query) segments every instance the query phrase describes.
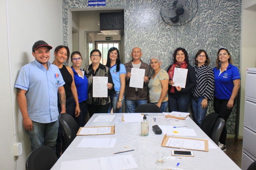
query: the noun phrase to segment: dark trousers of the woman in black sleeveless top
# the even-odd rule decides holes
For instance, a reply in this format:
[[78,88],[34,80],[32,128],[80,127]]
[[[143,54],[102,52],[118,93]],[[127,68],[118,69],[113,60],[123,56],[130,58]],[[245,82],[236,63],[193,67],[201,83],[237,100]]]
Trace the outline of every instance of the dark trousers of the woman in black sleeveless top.
[[[58,110],[59,114],[61,112],[61,106],[58,102]],[[73,118],[75,117],[75,104],[74,104],[74,97],[70,97],[68,100],[66,100],[66,113],[68,113],[70,116]],[[59,129],[58,129],[58,137],[57,137],[57,144],[56,144],[56,155],[59,158],[60,157],[60,152],[63,152],[67,149],[65,140],[63,138],[63,129],[61,124],[59,123]],[[61,149],[61,142],[62,142],[62,149]]]

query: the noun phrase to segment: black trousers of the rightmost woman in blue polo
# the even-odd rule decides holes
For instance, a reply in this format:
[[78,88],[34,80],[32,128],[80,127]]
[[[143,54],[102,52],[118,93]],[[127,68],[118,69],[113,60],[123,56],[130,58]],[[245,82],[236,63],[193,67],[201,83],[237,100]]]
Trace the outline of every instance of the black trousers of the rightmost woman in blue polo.
[[[236,103],[236,98],[234,99],[234,104]],[[213,100],[213,107],[214,107],[214,112],[217,114],[220,114],[221,117],[225,120],[225,126],[223,129],[223,132],[221,134],[221,138],[219,139],[219,142],[221,142],[222,144],[226,145],[226,138],[227,138],[227,128],[226,128],[226,122],[233,110],[232,109],[228,109],[228,101],[226,99],[217,99],[214,97]]]

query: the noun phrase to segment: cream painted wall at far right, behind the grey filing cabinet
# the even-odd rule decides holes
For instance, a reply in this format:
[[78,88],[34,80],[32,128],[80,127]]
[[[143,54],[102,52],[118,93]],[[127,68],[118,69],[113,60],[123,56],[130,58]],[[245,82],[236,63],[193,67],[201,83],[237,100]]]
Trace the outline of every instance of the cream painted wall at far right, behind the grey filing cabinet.
[[[250,11],[249,11],[250,10]],[[237,135],[241,139],[244,126],[246,68],[256,67],[256,0],[242,0],[240,52],[240,111],[238,112]]]

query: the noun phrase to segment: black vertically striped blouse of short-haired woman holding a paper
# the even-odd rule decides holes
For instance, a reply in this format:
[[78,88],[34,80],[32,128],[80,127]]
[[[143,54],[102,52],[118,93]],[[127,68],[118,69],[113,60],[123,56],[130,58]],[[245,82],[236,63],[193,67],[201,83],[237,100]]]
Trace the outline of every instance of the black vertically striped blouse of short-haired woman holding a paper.
[[[88,79],[88,104],[105,105],[110,103],[109,94],[115,93],[114,83],[108,67],[100,64],[94,72],[93,65],[90,64],[84,68],[84,74]],[[113,89],[108,89],[108,97],[93,97],[93,77],[108,77],[108,83],[113,84]]]

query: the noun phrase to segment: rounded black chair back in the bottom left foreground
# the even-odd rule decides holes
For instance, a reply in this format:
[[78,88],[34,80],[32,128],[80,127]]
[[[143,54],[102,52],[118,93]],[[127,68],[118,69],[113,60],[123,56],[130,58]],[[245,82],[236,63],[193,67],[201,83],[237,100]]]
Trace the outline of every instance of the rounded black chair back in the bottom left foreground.
[[58,158],[52,148],[42,146],[28,155],[26,170],[50,170],[57,160]]

